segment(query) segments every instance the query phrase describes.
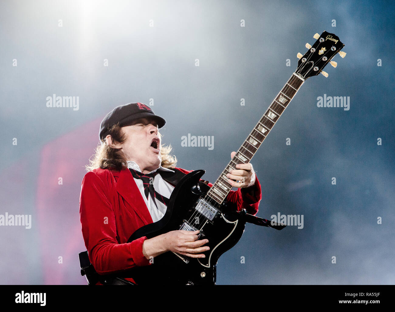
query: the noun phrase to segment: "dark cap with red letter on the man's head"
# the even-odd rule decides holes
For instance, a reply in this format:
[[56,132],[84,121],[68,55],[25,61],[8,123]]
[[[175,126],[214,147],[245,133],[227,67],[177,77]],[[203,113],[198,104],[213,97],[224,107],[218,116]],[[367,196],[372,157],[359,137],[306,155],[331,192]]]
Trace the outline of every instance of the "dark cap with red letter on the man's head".
[[152,109],[143,103],[129,103],[115,107],[109,112],[102,123],[100,123],[100,140],[104,140],[107,135],[110,134],[110,129],[113,125],[119,122],[119,126],[123,127],[133,120],[139,118],[152,118],[158,123],[158,128],[162,128],[166,120],[162,117],[156,116]]

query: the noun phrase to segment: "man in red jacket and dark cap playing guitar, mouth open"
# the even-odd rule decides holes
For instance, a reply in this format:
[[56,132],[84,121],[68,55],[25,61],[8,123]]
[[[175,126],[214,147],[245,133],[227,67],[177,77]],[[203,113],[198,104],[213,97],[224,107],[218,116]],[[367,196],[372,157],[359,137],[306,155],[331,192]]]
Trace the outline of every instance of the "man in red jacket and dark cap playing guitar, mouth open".
[[[166,213],[166,201],[176,182],[169,183],[161,174],[190,172],[175,167],[171,148],[162,145],[158,129],[165,122],[149,106],[130,103],[114,108],[101,123],[101,144],[87,166],[80,196],[85,246],[100,275],[126,276],[128,270],[151,265],[154,257],[168,251],[204,258],[210,249],[205,246],[208,239],[199,239],[199,230],[174,230],[127,243],[135,230],[157,222]],[[232,152],[231,157],[234,155]],[[227,174],[228,183],[237,188],[227,196],[229,207],[255,215],[261,200],[259,181],[252,164],[236,168]],[[134,282],[133,278],[126,280]]]

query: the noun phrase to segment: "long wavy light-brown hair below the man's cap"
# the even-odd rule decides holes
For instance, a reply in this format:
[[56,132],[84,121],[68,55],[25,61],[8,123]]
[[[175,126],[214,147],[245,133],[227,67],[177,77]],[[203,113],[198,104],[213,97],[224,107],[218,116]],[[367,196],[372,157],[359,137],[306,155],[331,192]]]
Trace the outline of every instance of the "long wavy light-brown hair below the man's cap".
[[[123,143],[126,140],[126,135],[122,131],[119,123],[113,125],[110,129],[111,138],[113,143]],[[158,132],[158,136],[162,142],[162,135]],[[171,145],[164,146],[160,145],[160,155],[162,156],[162,167],[174,168],[177,164],[177,158],[174,155],[170,155]],[[91,159],[93,157],[93,159]],[[89,172],[97,168],[102,169],[115,169],[122,170],[128,167],[128,161],[124,156],[122,150],[117,148],[111,148],[107,145],[105,140],[100,140],[100,144],[96,147],[95,153],[90,157],[89,164],[85,166],[85,169]]]

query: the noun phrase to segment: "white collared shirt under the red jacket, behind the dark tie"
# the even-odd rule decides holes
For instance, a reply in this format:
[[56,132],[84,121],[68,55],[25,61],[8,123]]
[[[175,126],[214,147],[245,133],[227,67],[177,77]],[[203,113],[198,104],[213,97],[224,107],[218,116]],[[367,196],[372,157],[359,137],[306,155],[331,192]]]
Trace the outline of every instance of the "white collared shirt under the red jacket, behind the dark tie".
[[[134,169],[138,172],[141,172],[139,165],[136,164],[134,161],[128,161],[128,168]],[[163,168],[162,166],[160,166],[158,169],[152,170],[149,173],[155,172],[156,170],[174,172],[174,170],[170,170],[170,169]],[[152,201],[152,197],[150,195],[148,196],[148,199],[147,199],[147,197],[145,197],[143,180],[136,179],[135,177],[133,179],[136,182],[136,185],[141,192],[141,196],[143,197],[145,204],[147,205],[148,211],[152,217],[152,221],[156,222],[156,221],[159,221],[160,219],[162,219],[162,217],[166,213],[167,206],[155,198],[156,205],[158,206],[158,207],[156,207],[154,202]],[[154,184],[153,185],[154,185],[154,189],[156,192],[158,192],[159,194],[161,194],[167,198],[170,198],[171,192],[173,192],[173,190],[174,190],[173,185],[171,185],[170,183],[165,181],[160,176],[160,174],[157,174],[154,177]]]

